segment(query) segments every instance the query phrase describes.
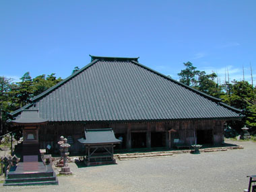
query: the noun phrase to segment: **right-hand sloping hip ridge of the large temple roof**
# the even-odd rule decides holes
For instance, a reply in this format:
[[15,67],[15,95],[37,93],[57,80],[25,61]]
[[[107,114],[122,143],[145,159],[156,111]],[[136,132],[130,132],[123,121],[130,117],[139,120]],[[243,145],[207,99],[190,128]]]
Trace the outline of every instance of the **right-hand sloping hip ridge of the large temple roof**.
[[194,89],[193,87],[189,87],[188,85],[185,85],[184,83],[181,83],[181,82],[179,82],[179,81],[177,81],[177,80],[174,80],[174,79],[172,79],[171,77],[167,77],[166,75],[164,75],[164,74],[162,74],[162,73],[159,73],[158,71],[156,71],[156,70],[154,70],[154,69],[152,69],[152,68],[149,68],[148,66],[145,66],[145,65],[143,65],[143,64],[141,64],[141,63],[139,63],[139,62],[136,62],[136,61],[134,61],[134,60],[132,60],[131,62],[133,62],[133,63],[135,63],[135,64],[137,64],[137,65],[139,65],[139,66],[141,66],[141,67],[143,67],[143,68],[146,68],[147,70],[150,70],[152,73],[155,73],[156,75],[160,75],[161,77],[164,77],[165,79],[168,79],[169,81],[172,81],[172,82],[174,82],[174,83],[177,83],[178,85],[181,85],[181,86],[183,86],[183,87],[185,87],[185,88],[187,88],[187,89],[189,89],[189,90],[191,90],[191,91],[193,91],[193,92],[195,92],[195,93],[198,93],[199,95],[202,95],[203,97],[206,97],[206,98],[208,98],[208,99],[212,99],[212,100],[214,100],[214,101],[217,101],[218,103],[220,103],[220,104],[223,105],[224,107],[228,107],[229,109],[232,109],[233,111],[238,111],[238,112],[240,112],[240,113],[243,111],[243,110],[241,110],[241,109],[236,109],[235,107],[232,107],[232,106],[230,106],[230,105],[227,105],[226,103],[221,102],[222,99],[219,99],[219,98],[217,98],[217,97],[213,97],[212,95],[208,95],[208,94],[206,94],[206,93],[203,93],[203,92],[201,92],[201,91],[199,91],[199,90],[197,90],[197,89]]

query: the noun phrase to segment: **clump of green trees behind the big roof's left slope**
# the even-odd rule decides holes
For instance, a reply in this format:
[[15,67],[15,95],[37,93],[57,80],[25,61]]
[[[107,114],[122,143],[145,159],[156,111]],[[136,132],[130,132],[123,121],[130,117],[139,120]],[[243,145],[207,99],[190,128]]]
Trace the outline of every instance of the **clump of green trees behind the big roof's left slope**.
[[5,125],[9,119],[8,113],[23,107],[30,102],[30,98],[39,95],[50,87],[53,87],[61,78],[55,77],[55,73],[51,75],[39,75],[32,79],[30,73],[25,73],[21,81],[12,83],[12,79],[0,77],[0,135],[5,132]]

